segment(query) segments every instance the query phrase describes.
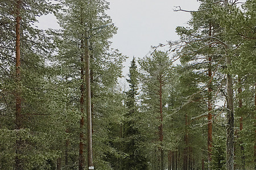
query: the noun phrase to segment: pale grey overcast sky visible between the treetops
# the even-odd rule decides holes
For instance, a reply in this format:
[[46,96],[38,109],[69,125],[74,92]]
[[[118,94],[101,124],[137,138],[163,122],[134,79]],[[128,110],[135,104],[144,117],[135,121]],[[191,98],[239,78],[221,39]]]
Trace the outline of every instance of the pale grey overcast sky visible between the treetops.
[[[127,74],[131,58],[144,57],[150,47],[166,41],[179,39],[177,26],[187,26],[191,15],[188,12],[174,12],[174,6],[185,10],[197,10],[196,0],[107,0],[110,10],[106,11],[118,27],[112,47],[128,56],[124,75]],[[53,15],[39,19],[39,28],[59,28]]]

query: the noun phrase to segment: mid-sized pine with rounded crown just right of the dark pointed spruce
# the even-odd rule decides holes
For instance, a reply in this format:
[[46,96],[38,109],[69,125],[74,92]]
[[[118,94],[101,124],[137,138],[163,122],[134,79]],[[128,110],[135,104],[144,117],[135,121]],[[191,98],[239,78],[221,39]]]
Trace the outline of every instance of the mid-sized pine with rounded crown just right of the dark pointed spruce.
[[[167,53],[156,51],[152,54],[152,57],[145,57],[139,60],[139,65],[142,70],[143,79],[143,112],[148,114],[146,118],[146,124],[144,124],[148,135],[148,141],[153,147],[151,152],[157,152],[158,156],[151,158],[151,161],[155,162],[155,167],[164,169],[164,135],[163,135],[163,120],[165,111],[165,86],[170,80],[171,76],[171,62],[167,56]],[[148,124],[148,125],[147,125]],[[144,132],[145,133],[145,132]],[[157,135],[155,135],[157,134]],[[155,160],[154,160],[155,159]]]

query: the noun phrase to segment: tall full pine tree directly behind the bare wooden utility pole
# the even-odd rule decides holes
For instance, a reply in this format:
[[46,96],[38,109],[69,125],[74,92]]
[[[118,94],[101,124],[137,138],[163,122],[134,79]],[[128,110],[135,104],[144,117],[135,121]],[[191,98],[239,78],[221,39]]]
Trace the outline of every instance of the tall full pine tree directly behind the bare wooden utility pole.
[[[69,145],[72,147],[77,141],[77,136],[80,135],[80,153],[76,152],[70,159],[73,163],[79,157],[80,169],[86,167],[84,156],[85,145],[85,82],[84,82],[84,62],[85,49],[88,46],[85,39],[89,39],[90,53],[90,85],[92,96],[92,133],[93,133],[93,159],[94,167],[101,169],[111,169],[109,163],[110,156],[115,158],[121,155],[118,154],[117,148],[114,148],[110,143],[114,141],[115,136],[110,133],[110,129],[119,122],[123,112],[118,112],[121,109],[121,100],[119,99],[119,91],[117,91],[117,78],[121,77],[122,62],[125,61],[125,56],[112,50],[109,52],[110,43],[108,39],[115,33],[114,27],[104,28],[102,32],[93,29],[111,22],[105,11],[108,10],[108,3],[105,1],[63,1],[63,12],[57,14],[57,19],[62,29],[59,32],[53,32],[58,43],[58,52],[56,56],[57,65],[61,67],[60,75],[56,78],[61,80],[67,79],[69,82],[72,96],[72,105],[75,115],[80,116],[80,126],[74,122],[69,133],[76,134],[69,139]],[[89,29],[89,37],[85,36],[85,29]],[[109,98],[109,99],[108,99]],[[112,101],[112,103],[110,102]],[[119,103],[120,102],[120,103]],[[113,107],[115,105],[115,107]],[[121,107],[121,108],[119,108]],[[115,118],[114,118],[115,117]],[[119,120],[119,121],[117,121]],[[114,122],[114,123],[112,123]],[[72,123],[72,122],[70,122]],[[77,131],[77,129],[80,129]],[[71,131],[73,130],[73,132]],[[77,134],[79,132],[79,134]],[[72,142],[71,142],[72,141]],[[111,142],[110,142],[111,141]],[[74,146],[77,148],[77,146]],[[112,155],[112,156],[113,156]],[[69,163],[72,164],[72,163]]]

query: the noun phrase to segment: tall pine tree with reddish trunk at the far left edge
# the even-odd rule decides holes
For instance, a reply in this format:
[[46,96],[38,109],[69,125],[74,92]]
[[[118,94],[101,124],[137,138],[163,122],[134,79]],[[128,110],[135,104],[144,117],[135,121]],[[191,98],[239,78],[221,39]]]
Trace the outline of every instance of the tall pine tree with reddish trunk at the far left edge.
[[[1,109],[5,115],[1,117],[1,138],[11,137],[5,139],[8,152],[3,152],[1,162],[8,161],[1,168],[14,164],[15,169],[31,169],[43,166],[56,154],[45,144],[50,141],[44,134],[46,129],[38,128],[47,127],[45,119],[51,114],[42,106],[48,100],[43,99],[44,62],[51,50],[47,36],[33,26],[36,16],[48,14],[54,7],[46,1],[19,0],[1,1],[0,10]],[[38,146],[42,150],[35,150]]]

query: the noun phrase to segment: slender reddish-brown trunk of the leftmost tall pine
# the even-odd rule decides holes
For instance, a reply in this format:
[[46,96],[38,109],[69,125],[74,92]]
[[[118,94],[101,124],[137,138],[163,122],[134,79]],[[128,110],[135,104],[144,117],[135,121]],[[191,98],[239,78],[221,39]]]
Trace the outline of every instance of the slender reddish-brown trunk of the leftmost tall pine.
[[[21,129],[22,128],[22,122],[21,122],[21,94],[20,94],[20,6],[22,4],[22,1],[16,1],[15,8],[16,8],[16,45],[15,45],[15,58],[16,58],[16,94],[15,94],[15,129]],[[19,158],[19,155],[21,154],[21,145],[22,145],[22,139],[16,139],[16,155],[15,155],[15,164],[14,169],[15,170],[23,170],[23,164],[22,159]]]

